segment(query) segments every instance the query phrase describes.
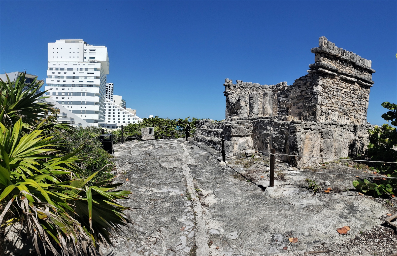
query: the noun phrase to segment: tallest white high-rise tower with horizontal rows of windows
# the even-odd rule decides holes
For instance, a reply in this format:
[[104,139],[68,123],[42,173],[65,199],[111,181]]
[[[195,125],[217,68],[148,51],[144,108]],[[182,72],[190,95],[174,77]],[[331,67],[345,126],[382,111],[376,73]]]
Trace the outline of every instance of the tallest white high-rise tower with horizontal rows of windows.
[[108,50],[83,39],[48,43],[45,90],[59,104],[91,125],[104,126]]

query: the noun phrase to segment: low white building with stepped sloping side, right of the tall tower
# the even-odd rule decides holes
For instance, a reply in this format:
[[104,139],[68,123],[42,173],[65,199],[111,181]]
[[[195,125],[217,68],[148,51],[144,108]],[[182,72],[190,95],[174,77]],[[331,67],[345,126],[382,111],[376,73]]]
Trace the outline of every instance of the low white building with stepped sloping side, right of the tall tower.
[[143,119],[125,108],[114,103],[113,101],[106,99],[105,102],[105,128],[120,128],[122,125],[137,124],[143,122]]

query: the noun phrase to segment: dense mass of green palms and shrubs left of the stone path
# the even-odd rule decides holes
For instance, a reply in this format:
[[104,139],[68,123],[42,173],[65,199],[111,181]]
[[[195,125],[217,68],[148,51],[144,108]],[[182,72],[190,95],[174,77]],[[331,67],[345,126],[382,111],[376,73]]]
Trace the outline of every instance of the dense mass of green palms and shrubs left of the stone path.
[[19,223],[39,255],[102,254],[99,246],[112,244],[112,232],[132,223],[124,212],[129,208],[116,201],[131,192],[116,190],[112,177],[96,178],[108,165],[107,155],[92,152],[95,130],[75,131],[45,118],[53,109],[37,93],[43,82],[24,81],[25,74],[0,81],[0,235]]

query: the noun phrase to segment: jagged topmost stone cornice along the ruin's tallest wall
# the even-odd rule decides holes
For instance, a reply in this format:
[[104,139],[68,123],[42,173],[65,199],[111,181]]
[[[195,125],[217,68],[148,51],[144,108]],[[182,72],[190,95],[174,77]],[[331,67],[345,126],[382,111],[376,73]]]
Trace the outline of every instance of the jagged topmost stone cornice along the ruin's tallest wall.
[[364,59],[354,52],[349,52],[343,48],[339,48],[335,46],[335,43],[328,41],[326,37],[320,37],[318,39],[318,46],[312,48],[310,51],[313,53],[324,52],[326,54],[330,54],[333,56],[337,56],[345,61],[352,62],[354,65],[365,69],[368,73],[375,73],[375,70],[371,68],[372,61]]

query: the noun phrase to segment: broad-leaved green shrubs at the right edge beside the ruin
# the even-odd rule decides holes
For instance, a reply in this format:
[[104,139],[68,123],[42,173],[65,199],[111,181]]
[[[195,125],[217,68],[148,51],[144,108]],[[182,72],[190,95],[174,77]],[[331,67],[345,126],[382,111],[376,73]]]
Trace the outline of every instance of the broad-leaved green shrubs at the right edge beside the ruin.
[[[372,161],[384,162],[397,162],[397,130],[393,126],[397,126],[397,105],[389,102],[382,103],[382,107],[388,109],[385,114],[382,114],[388,124],[382,126],[375,126],[374,129],[369,129],[370,143],[368,147],[368,156]],[[390,125],[391,124],[391,125]],[[374,170],[375,168],[383,175],[388,177],[397,177],[397,164],[394,163],[372,163],[372,167],[368,169]],[[362,166],[358,166],[360,169]],[[382,196],[383,194],[395,193],[397,189],[397,179],[378,178],[374,182],[364,179],[363,182],[358,180],[353,181],[355,188],[361,192],[372,193],[374,196]]]

